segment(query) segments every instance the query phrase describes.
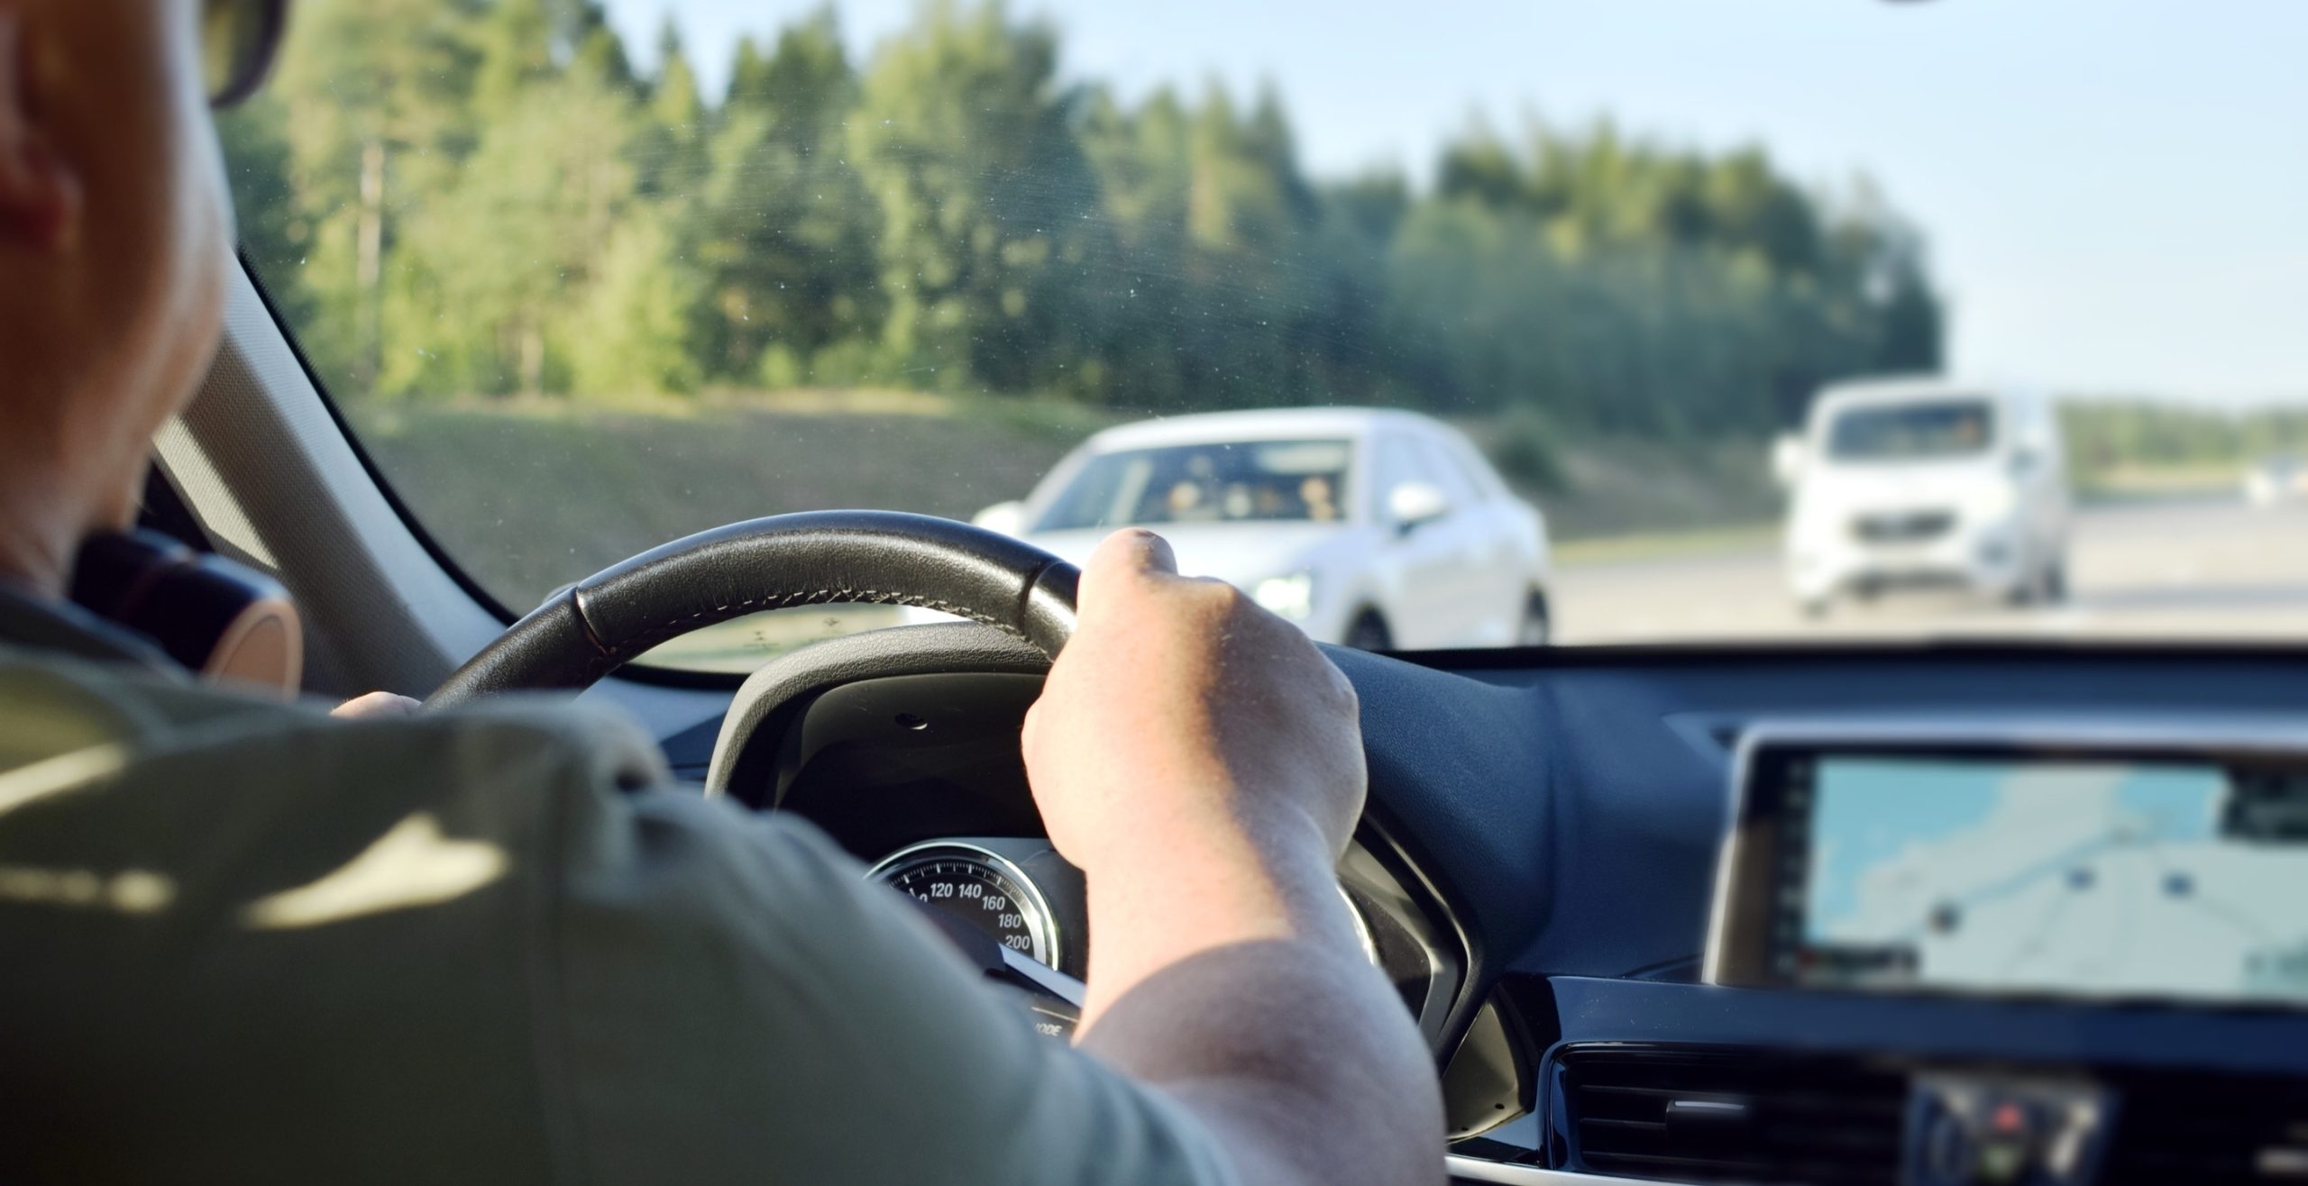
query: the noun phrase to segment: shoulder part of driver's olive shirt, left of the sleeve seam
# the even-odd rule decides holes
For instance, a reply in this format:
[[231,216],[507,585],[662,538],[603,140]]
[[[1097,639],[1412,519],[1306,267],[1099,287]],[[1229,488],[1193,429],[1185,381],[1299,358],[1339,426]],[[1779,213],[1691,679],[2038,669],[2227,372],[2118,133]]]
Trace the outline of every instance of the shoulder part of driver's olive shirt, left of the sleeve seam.
[[658,771],[646,736],[335,720],[23,651],[0,706],[0,1011],[37,1020],[0,1098],[74,1177],[547,1177],[556,840]]

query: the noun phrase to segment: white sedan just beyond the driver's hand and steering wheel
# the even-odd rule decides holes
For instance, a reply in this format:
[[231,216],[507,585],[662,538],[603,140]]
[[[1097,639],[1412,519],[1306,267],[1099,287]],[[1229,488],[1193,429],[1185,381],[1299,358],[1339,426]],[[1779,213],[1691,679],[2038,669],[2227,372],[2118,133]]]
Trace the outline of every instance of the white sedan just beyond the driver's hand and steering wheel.
[[1482,452],[1382,408],[1182,415],[1106,429],[1020,503],[976,515],[1080,563],[1119,526],[1170,540],[1318,641],[1542,646],[1546,521]]

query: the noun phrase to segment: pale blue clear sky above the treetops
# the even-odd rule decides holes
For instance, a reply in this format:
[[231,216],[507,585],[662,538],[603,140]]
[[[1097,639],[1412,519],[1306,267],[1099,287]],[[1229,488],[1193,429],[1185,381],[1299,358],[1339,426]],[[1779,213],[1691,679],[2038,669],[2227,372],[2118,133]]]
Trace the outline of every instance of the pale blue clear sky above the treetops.
[[[607,0],[644,60],[667,12],[711,88],[817,0]],[[914,0],[835,5],[856,53]],[[1062,69],[1138,97],[1274,85],[1318,178],[1486,118],[1766,145],[1867,175],[1923,226],[1950,369],[2056,392],[2308,401],[2308,2],[1013,0]]]

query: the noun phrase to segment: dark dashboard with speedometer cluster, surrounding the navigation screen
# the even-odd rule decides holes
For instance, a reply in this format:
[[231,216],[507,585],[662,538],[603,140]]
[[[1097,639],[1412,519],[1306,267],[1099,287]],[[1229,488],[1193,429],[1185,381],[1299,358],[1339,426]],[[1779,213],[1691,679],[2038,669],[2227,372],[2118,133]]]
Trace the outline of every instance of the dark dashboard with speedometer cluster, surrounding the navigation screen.
[[[1039,662],[942,639],[909,641],[914,674],[819,644],[833,653],[815,671],[764,669],[667,755],[690,773],[722,766],[727,794],[805,815],[882,879],[930,907],[969,902],[981,937],[1039,946],[1078,976],[1094,941],[1080,877],[1048,849],[1016,752]],[[2167,925],[2126,971],[2135,992],[1833,985],[1710,953],[1733,789],[1761,741],[2089,734],[2186,741],[2181,757],[2204,766],[2243,734],[2262,750],[2308,743],[2308,655],[1941,644],[1334,660],[1371,757],[1341,888],[1433,1043],[1454,1181],[2308,1181],[2308,1011],[2290,988],[2239,992],[2241,978],[2160,990],[2186,969],[2156,948],[2211,923]],[[711,759],[715,738],[739,752]],[[2276,815],[2236,833],[2262,849],[2299,824],[2292,791],[2269,794]],[[2172,893],[2142,870],[2100,877],[2047,884]],[[2223,902],[2269,930],[2248,953],[2283,981],[2308,904],[2253,886]],[[2084,955],[2096,941],[2040,930]]]

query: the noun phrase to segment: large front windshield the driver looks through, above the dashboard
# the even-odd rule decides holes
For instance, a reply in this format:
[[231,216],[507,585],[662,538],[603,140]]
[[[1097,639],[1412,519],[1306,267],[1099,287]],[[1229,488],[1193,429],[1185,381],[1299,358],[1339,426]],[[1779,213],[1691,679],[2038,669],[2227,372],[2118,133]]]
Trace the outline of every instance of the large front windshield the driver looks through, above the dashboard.
[[[1069,558],[1228,521],[1189,572],[1406,651],[2299,641],[2301,44],[2292,0],[298,0],[219,125],[277,318],[508,614],[889,508]],[[1823,425],[1869,383],[1946,395]]]

